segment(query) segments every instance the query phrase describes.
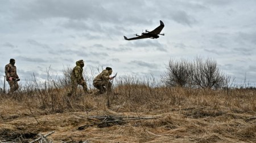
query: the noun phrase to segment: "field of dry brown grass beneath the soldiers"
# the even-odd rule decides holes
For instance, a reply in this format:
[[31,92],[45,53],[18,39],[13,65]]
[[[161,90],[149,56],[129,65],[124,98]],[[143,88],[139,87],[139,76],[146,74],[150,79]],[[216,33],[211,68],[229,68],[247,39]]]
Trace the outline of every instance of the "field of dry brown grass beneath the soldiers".
[[[52,142],[256,142],[256,90],[135,83],[119,84],[109,96],[68,98],[66,92],[1,95],[0,142],[30,142],[51,131],[47,138]],[[77,129],[95,122],[88,116],[100,115],[159,118]]]

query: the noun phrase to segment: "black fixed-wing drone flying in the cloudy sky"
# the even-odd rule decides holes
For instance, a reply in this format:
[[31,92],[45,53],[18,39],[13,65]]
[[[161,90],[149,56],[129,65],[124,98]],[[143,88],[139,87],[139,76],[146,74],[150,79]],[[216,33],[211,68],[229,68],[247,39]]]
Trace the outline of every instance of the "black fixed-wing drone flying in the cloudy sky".
[[[137,40],[137,39],[143,39],[143,38],[159,38],[158,34],[160,34],[160,32],[162,31],[162,29],[164,28],[164,24],[163,24],[163,21],[160,20],[160,26],[155,28],[154,31],[147,31],[146,32],[142,32],[141,35],[138,35],[138,34],[135,34],[135,36],[138,36],[138,37],[133,37],[133,38],[127,38],[125,36],[125,40]],[[164,34],[160,34],[160,35],[163,35]]]

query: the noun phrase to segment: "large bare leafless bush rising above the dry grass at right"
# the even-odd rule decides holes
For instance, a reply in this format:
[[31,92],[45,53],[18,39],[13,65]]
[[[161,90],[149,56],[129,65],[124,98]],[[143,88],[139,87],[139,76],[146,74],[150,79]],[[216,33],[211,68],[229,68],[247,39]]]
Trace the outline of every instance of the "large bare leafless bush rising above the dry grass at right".
[[200,88],[220,88],[228,85],[228,79],[220,72],[216,60],[197,57],[193,62],[171,59],[162,81],[167,86],[193,86]]

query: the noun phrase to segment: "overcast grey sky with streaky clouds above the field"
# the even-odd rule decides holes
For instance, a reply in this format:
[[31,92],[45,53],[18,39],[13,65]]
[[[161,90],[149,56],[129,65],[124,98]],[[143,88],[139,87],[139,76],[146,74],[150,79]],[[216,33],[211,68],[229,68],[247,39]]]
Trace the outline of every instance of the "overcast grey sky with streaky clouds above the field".
[[[170,59],[212,58],[236,83],[256,83],[254,0],[1,0],[0,70],[10,58],[18,75],[62,75],[77,60],[85,71],[112,67],[118,75],[160,80]],[[157,39],[126,41],[162,20]],[[0,83],[1,85],[1,83]]]

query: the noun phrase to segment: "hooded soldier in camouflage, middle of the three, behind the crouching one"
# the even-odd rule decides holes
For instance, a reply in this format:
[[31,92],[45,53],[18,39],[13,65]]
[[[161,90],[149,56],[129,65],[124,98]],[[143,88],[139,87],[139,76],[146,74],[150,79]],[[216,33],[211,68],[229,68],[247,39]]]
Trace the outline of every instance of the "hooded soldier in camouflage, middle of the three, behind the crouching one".
[[73,68],[71,75],[72,89],[71,92],[68,93],[68,96],[72,96],[73,94],[76,96],[77,85],[82,85],[84,93],[90,93],[88,91],[84,77],[82,76],[82,67],[84,67],[84,60],[81,59],[76,61],[76,67]]

